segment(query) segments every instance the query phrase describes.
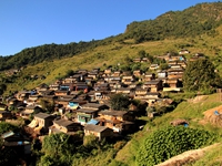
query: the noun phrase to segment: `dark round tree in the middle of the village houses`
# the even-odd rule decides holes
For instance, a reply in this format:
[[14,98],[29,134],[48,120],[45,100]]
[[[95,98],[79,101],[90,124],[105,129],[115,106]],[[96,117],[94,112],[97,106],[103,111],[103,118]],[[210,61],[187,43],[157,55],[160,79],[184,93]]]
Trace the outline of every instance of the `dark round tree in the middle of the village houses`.
[[111,107],[113,110],[128,110],[130,105],[129,97],[122,93],[113,94],[110,97]]

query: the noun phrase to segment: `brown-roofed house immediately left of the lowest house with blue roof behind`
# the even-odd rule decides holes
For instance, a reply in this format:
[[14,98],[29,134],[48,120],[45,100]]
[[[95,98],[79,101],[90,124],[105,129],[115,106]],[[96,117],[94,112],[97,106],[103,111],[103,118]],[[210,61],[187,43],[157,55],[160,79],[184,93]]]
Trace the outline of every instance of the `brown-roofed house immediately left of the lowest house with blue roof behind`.
[[74,134],[74,132],[77,131],[82,131],[82,126],[80,123],[61,118],[53,121],[53,125],[49,128],[49,134],[61,132],[67,134]]

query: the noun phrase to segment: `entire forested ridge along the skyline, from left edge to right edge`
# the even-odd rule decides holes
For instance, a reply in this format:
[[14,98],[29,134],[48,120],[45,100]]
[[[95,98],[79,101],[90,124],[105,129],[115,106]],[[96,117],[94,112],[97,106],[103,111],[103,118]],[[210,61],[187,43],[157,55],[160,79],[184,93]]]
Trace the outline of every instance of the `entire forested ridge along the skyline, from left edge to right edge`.
[[114,42],[127,44],[125,40],[141,43],[201,34],[214,37],[218,34],[215,28],[221,24],[222,2],[200,3],[183,11],[169,11],[154,20],[134,21],[127,25],[124,33],[103,40],[68,44],[44,44],[24,49],[14,55],[0,56],[0,71],[70,58]]

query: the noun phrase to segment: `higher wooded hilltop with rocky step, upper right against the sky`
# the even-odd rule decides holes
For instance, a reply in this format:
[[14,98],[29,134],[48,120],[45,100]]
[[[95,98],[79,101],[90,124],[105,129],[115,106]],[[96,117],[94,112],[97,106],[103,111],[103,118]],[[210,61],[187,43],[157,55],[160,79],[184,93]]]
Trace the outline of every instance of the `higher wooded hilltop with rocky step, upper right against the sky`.
[[155,20],[132,22],[127,27],[124,39],[137,43],[165,38],[195,37],[206,33],[216,35],[215,28],[222,23],[222,2],[200,3],[183,11],[169,11]]

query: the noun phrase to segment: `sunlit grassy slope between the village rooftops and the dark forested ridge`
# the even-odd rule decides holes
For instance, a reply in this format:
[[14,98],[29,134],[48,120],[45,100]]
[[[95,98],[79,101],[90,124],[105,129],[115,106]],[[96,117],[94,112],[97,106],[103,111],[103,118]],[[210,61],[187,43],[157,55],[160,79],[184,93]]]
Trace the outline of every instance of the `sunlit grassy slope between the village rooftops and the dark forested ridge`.
[[[91,51],[82,54],[74,55],[72,58],[56,60],[52,62],[43,62],[38,65],[27,66],[18,80],[11,84],[8,84],[8,91],[16,91],[26,89],[33,89],[40,83],[52,83],[58,76],[64,75],[68,70],[88,69],[93,68],[104,69],[108,65],[117,65],[119,62],[123,62],[125,55],[130,58],[137,58],[140,50],[144,50],[151,55],[163,55],[165,52],[173,51],[178,52],[180,45],[191,44],[191,46],[185,48],[191,51],[191,54],[202,52],[205,55],[215,58],[215,53],[222,55],[222,27],[218,29],[219,35],[215,38],[202,35],[192,39],[168,39],[163,41],[145,42],[140,44],[121,44],[111,43],[109,45],[98,46]],[[216,66],[222,70],[222,65]],[[24,81],[26,75],[46,75],[47,79],[41,81]],[[221,74],[222,75],[222,74]]]

